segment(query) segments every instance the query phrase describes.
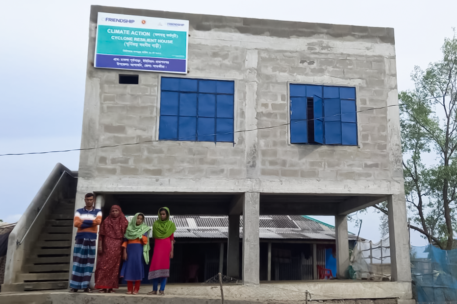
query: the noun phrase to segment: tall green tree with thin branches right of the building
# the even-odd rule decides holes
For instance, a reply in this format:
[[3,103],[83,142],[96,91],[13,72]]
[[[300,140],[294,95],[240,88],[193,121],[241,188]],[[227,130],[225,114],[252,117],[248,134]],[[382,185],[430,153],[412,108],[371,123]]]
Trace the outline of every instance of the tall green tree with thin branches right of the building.
[[[410,228],[450,250],[457,227],[456,36],[446,38],[441,49],[440,61],[426,70],[415,67],[415,89],[401,92],[399,102],[406,202],[414,224]],[[424,158],[430,156],[435,161],[426,164]]]

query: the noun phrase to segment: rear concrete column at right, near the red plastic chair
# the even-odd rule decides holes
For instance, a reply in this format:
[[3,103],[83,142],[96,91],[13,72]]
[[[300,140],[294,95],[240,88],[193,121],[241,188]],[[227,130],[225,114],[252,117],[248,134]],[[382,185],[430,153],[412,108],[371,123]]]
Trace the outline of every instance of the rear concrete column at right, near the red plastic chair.
[[336,278],[347,279],[349,267],[348,217],[335,216]]

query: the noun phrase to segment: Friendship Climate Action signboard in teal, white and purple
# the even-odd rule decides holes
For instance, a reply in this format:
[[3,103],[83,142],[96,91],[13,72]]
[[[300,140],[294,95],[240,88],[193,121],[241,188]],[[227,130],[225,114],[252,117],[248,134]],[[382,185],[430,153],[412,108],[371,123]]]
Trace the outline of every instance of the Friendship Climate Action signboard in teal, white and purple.
[[96,68],[187,73],[189,21],[99,12]]

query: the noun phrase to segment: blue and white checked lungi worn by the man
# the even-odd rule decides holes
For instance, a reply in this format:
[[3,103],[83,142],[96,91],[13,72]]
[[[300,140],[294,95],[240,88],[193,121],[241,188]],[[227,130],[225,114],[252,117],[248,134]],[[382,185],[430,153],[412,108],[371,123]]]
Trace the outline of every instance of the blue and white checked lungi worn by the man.
[[89,287],[94,270],[95,246],[95,239],[76,238],[70,288],[85,289]]

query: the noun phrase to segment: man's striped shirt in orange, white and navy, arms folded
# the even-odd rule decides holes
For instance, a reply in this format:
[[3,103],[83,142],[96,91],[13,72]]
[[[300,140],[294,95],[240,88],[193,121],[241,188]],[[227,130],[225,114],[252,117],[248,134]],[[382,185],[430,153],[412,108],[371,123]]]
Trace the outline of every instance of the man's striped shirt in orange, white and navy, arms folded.
[[76,238],[97,239],[97,226],[102,223],[102,210],[86,207],[76,210],[73,220],[74,226],[78,229]]

